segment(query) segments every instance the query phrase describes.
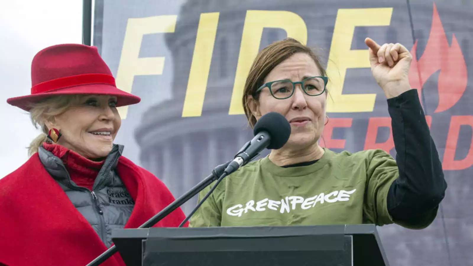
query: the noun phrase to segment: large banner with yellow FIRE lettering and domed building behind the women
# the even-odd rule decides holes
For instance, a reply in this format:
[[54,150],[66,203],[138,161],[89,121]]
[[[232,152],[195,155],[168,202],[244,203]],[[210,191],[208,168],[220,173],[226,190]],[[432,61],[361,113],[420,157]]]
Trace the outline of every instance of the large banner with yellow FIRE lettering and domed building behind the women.
[[409,80],[448,188],[427,229],[383,226],[381,240],[392,266],[473,265],[472,10],[460,0],[96,0],[93,45],[118,88],[142,98],[121,107],[115,142],[182,195],[251,139],[241,104],[246,75],[258,51],[293,37],[326,63],[331,97],[320,145],[395,156],[364,39],[401,43],[413,56]]

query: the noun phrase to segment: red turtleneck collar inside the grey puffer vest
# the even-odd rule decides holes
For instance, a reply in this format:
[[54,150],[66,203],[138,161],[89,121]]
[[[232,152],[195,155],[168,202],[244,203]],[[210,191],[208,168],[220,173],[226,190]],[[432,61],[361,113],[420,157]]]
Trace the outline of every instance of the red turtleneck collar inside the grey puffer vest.
[[82,186],[92,191],[95,178],[104,165],[105,160],[89,160],[79,153],[71,151],[59,144],[44,142],[43,147],[62,160],[69,172],[70,179],[74,181],[77,186]]

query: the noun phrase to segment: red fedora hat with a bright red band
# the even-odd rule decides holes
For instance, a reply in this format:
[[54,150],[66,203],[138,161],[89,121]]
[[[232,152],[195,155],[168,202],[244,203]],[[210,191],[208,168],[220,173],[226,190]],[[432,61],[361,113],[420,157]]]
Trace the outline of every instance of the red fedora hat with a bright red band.
[[138,96],[117,89],[97,48],[83,44],[53,45],[36,53],[31,63],[31,94],[7,102],[29,111],[41,99],[70,94],[116,96],[117,106],[140,102]]

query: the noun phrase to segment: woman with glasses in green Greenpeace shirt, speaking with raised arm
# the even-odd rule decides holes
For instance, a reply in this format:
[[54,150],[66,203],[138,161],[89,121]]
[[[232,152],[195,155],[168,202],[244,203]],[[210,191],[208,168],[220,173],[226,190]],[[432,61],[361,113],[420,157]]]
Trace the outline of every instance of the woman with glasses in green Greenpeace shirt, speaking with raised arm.
[[401,44],[380,46],[370,38],[365,43],[387,98],[396,160],[382,150],[336,153],[319,146],[328,78],[319,57],[288,38],[254,60],[243,106],[251,126],[269,112],[284,115],[289,141],[226,177],[191,226],[395,222],[421,229],[434,220],[447,184],[417,91],[409,85],[411,54]]

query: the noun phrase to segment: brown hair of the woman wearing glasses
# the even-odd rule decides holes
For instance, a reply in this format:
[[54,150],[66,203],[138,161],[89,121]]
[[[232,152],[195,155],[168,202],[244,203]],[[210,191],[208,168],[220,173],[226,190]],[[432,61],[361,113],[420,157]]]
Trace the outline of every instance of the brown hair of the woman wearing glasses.
[[264,78],[266,78],[273,68],[288,59],[294,53],[307,53],[314,59],[320,74],[322,76],[327,75],[320,62],[319,56],[312,51],[311,48],[293,38],[286,38],[266,46],[254,59],[253,65],[248,73],[248,78],[246,78],[245,90],[243,91],[243,108],[251,127],[254,127],[254,124],[256,124],[256,117],[251,113],[249,96],[253,96],[253,98],[258,101],[258,95],[254,95],[254,91],[263,86]]

